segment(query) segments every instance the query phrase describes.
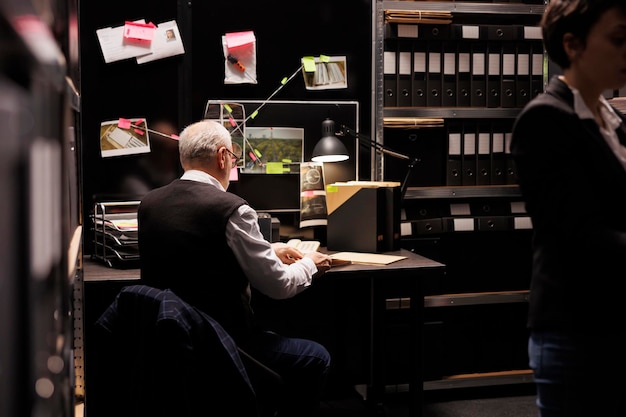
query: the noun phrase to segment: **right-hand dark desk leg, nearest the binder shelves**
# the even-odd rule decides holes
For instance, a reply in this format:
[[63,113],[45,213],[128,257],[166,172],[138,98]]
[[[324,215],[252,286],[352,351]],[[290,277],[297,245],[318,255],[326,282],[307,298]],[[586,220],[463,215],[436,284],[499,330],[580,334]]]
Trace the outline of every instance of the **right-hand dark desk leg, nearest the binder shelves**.
[[424,402],[424,291],[421,277],[411,280],[411,332],[409,343],[409,415],[422,417]]

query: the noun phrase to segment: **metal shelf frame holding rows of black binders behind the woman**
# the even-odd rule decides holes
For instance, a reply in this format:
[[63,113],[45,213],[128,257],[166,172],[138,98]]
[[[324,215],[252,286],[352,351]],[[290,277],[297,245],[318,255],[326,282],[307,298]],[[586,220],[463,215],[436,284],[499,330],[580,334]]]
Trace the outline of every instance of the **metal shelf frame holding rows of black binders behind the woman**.
[[[537,2],[539,3],[539,2]],[[385,11],[387,10],[421,10],[421,11],[442,11],[450,12],[453,18],[459,17],[466,21],[471,21],[472,24],[479,25],[480,19],[485,21],[495,22],[499,17],[502,17],[504,22],[513,22],[515,16],[523,16],[524,21],[536,21],[539,22],[541,15],[545,10],[545,4],[527,4],[527,3],[478,3],[478,2],[459,2],[459,1],[376,1],[373,4],[372,21],[374,22],[373,28],[373,42],[372,42],[372,56],[374,57],[373,79],[372,79],[372,91],[374,106],[372,108],[372,132],[374,132],[375,140],[381,144],[385,143],[385,132],[389,127],[385,126],[385,118],[407,118],[407,119],[434,119],[439,118],[444,121],[447,120],[480,120],[480,119],[514,119],[521,107],[503,108],[503,107],[385,107],[385,89],[384,89],[384,51],[385,51],[385,39],[390,33],[389,23],[385,22]],[[476,23],[478,22],[478,23]],[[506,23],[500,23],[506,24]],[[419,42],[422,40],[415,39]],[[544,63],[547,60],[544,54]],[[547,66],[544,65],[544,68]],[[543,75],[544,85],[547,81],[548,74]],[[392,163],[392,162],[389,162]],[[380,155],[372,156],[372,178],[376,180],[384,180],[384,160]],[[483,201],[504,201],[511,204],[517,204],[521,202],[521,193],[517,185],[486,185],[486,186],[420,186],[420,187],[408,187],[405,194],[405,201],[415,205],[421,202],[440,202],[445,205],[457,205],[466,203],[468,206],[476,204],[476,202]],[[521,204],[521,203],[519,203]],[[518,204],[518,206],[519,206]],[[525,216],[525,214],[516,214],[518,216]],[[473,215],[472,215],[473,216]],[[472,217],[469,214],[466,218]],[[464,218],[463,220],[468,220]],[[435,219],[437,220],[437,219]],[[446,219],[439,219],[441,222],[445,222]],[[473,219],[480,224],[481,219],[475,217]],[[485,220],[485,219],[482,219]],[[496,221],[502,219],[495,219]],[[528,228],[526,222],[523,228]],[[517,228],[517,224],[511,226],[505,233],[517,233],[513,231]],[[443,227],[445,229],[445,227]],[[437,229],[437,230],[443,230]],[[413,227],[412,231],[418,230]],[[424,230],[424,229],[421,229]],[[434,234],[428,236],[422,236],[424,238],[431,238],[437,240],[445,235],[446,238],[454,238],[455,230],[443,230],[443,233],[435,230]],[[486,229],[485,229],[486,230]],[[428,231],[427,231],[428,232]],[[472,231],[464,231],[464,236],[467,237],[471,233],[481,233],[482,229],[472,229]],[[490,233],[490,232],[485,232]],[[416,236],[411,236],[415,238]],[[420,236],[417,236],[419,238]],[[528,242],[530,245],[530,242]],[[440,245],[442,246],[442,245]],[[430,255],[429,255],[430,256]],[[432,257],[432,256],[430,256]],[[444,262],[445,263],[445,262]],[[506,280],[507,274],[502,273],[502,280]],[[463,279],[474,279],[475,277],[467,276]],[[530,277],[529,277],[530,279]],[[449,311],[447,309],[455,308],[472,308],[472,306],[492,306],[497,309],[498,306],[522,304],[528,301],[527,289],[505,290],[505,291],[469,291],[459,293],[443,293],[428,295],[425,300],[425,307],[428,309],[434,309],[434,311]],[[388,300],[387,308],[389,310],[408,308],[410,300],[404,298],[398,298]],[[488,307],[488,308],[492,308]],[[482,308],[482,307],[480,307]],[[523,329],[521,329],[523,330]],[[428,343],[425,340],[424,343]],[[477,387],[477,386],[489,386],[489,385],[503,385],[503,384],[519,384],[532,382],[532,373],[528,369],[514,369],[514,370],[501,370],[496,372],[477,372],[477,373],[465,373],[461,372],[458,375],[447,375],[437,380],[428,380],[424,383],[425,390],[438,390],[449,388],[463,388],[463,387]],[[396,386],[389,386],[388,391],[403,391],[402,384]]]

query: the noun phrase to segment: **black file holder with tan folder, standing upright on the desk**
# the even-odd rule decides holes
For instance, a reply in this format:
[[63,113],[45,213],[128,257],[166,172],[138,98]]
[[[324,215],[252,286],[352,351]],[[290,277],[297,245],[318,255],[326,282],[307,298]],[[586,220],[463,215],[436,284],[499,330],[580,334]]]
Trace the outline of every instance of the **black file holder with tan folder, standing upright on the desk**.
[[400,183],[348,181],[326,187],[327,246],[333,251],[400,248]]

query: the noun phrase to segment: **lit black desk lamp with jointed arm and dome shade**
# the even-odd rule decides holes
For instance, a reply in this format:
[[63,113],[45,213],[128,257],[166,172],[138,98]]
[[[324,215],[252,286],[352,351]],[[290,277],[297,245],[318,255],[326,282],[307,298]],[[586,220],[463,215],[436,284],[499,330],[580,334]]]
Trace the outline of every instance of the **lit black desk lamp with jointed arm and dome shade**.
[[313,148],[313,154],[311,156],[311,161],[313,162],[339,162],[345,161],[350,156],[348,154],[348,150],[344,146],[344,144],[337,138],[338,136],[350,135],[358,139],[359,144],[364,147],[373,148],[374,151],[379,152],[384,155],[393,156],[398,159],[406,159],[409,160],[408,170],[402,181],[402,186],[400,188],[401,199],[404,199],[404,194],[406,193],[406,189],[409,185],[409,178],[411,177],[411,172],[413,171],[413,167],[415,164],[420,161],[419,158],[411,158],[407,155],[398,153],[389,148],[385,148],[382,144],[373,141],[369,137],[360,134],[347,127],[346,125],[341,125],[339,131],[335,129],[335,122],[331,119],[326,119],[322,122],[322,138],[315,144]]

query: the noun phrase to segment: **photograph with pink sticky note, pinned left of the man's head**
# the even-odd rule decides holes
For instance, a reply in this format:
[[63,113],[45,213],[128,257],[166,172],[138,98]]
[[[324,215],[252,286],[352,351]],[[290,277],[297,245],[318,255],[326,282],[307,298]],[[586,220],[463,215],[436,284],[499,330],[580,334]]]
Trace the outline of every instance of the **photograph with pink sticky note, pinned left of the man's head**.
[[[120,120],[129,121],[128,125]],[[100,124],[100,152],[103,158],[150,152],[146,119],[117,119]]]

